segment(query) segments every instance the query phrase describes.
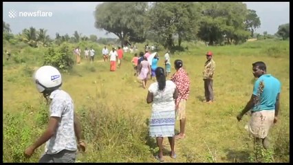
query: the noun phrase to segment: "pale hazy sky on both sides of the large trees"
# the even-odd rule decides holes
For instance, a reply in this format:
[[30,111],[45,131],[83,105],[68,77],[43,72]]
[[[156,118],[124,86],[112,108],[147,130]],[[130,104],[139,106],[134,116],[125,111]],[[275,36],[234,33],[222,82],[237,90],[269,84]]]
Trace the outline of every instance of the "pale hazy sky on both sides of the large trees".
[[[56,32],[61,35],[74,31],[89,36],[95,34],[99,38],[117,38],[114,34],[107,34],[94,27],[94,10],[102,2],[4,2],[3,21],[10,24],[13,34],[21,32],[31,26],[39,30],[44,28],[52,38]],[[279,25],[290,23],[289,2],[244,2],[247,8],[255,10],[261,19],[261,28],[256,32],[274,34]],[[49,17],[11,17],[12,12],[52,12]],[[9,16],[10,14],[10,16]],[[40,14],[39,14],[40,15]]]

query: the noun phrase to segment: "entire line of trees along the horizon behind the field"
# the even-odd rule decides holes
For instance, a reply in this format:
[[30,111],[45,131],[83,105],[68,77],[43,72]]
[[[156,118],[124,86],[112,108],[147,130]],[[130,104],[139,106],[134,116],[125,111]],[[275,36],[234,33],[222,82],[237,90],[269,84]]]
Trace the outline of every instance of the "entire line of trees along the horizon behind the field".
[[[121,45],[149,40],[165,48],[181,47],[182,41],[204,41],[208,45],[240,44],[254,36],[261,21],[255,10],[242,2],[105,2],[96,6],[95,27],[118,36]],[[3,21],[3,39],[22,41],[32,47],[63,42],[98,41],[94,34],[72,36],[56,33],[50,39],[47,30],[33,27],[21,33],[10,33],[10,25]],[[290,36],[289,23],[279,25],[275,34],[282,39]],[[270,36],[267,32],[263,36]],[[101,39],[102,43],[107,43]],[[177,45],[176,45],[176,43]]]

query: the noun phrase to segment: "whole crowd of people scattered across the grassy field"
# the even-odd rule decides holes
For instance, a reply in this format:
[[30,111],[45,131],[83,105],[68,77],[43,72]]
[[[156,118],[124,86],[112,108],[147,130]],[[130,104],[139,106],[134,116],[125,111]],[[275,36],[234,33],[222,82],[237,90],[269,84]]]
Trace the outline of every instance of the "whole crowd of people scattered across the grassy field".
[[[80,56],[80,49],[74,50]],[[85,49],[85,56],[92,56],[94,50]],[[112,47],[109,52],[105,46],[102,49],[104,61],[110,62],[110,71],[121,67],[123,50]],[[150,60],[151,59],[151,60]],[[173,63],[175,73],[171,74],[170,52],[164,54],[165,67],[158,67],[160,57],[157,52],[151,54],[149,48],[144,52],[134,54],[131,63],[134,76],[142,80],[142,87],[146,89],[147,80],[155,78],[155,82],[148,87],[146,103],[152,103],[151,118],[149,120],[149,136],[155,137],[159,151],[155,159],[164,162],[163,140],[168,137],[171,147],[170,157],[175,159],[175,140],[186,137],[186,102],[190,92],[190,78],[184,69],[184,62],[176,59]],[[203,65],[204,96],[202,102],[211,104],[215,101],[213,94],[213,76],[215,74],[215,61],[213,52],[206,53],[206,63]],[[80,58],[76,58],[78,63]],[[118,65],[116,66],[116,61]],[[269,148],[268,131],[273,123],[277,122],[279,114],[279,94],[281,83],[272,75],[266,73],[265,63],[259,61],[252,64],[252,73],[258,80],[254,83],[252,96],[246,107],[237,115],[241,120],[243,115],[251,110],[251,120],[248,131],[253,135],[254,142],[262,142],[264,148]],[[25,156],[30,157],[34,150],[47,142],[45,154],[39,162],[74,162],[76,151],[80,148],[85,151],[85,142],[81,140],[81,129],[78,118],[74,112],[72,98],[65,91],[59,89],[62,85],[60,72],[52,66],[40,67],[34,74],[34,82],[39,92],[50,103],[50,120],[47,129],[34,144],[25,149]],[[179,120],[180,132],[175,134],[175,122]]]

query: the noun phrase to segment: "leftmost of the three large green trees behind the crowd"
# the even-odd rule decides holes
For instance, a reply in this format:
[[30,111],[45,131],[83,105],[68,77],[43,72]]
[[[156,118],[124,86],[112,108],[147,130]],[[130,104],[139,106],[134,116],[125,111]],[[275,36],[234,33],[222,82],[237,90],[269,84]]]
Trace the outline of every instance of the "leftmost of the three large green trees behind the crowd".
[[97,5],[95,11],[95,27],[113,33],[124,45],[124,40],[130,42],[145,41],[148,30],[146,12],[149,5],[146,2],[105,2]]

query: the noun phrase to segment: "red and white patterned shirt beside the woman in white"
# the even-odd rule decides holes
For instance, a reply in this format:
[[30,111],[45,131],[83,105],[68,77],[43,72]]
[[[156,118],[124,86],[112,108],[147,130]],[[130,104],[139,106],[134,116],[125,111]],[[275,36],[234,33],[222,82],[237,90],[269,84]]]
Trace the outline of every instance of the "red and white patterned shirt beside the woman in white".
[[175,83],[179,91],[178,98],[176,99],[176,102],[175,102],[176,108],[177,108],[181,99],[185,99],[185,100],[188,99],[189,86],[191,84],[188,78],[188,74],[184,71],[184,69],[182,69],[182,67],[178,69],[177,72],[175,72],[175,74],[171,76],[171,80]]

